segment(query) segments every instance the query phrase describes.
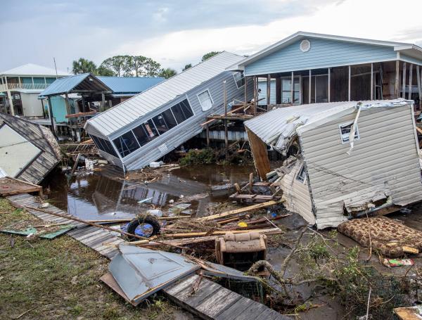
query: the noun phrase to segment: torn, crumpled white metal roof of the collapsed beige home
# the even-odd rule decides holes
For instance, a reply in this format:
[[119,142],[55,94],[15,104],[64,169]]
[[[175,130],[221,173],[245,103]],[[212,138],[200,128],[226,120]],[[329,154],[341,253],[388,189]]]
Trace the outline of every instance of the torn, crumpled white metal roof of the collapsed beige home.
[[[246,121],[245,127],[248,127],[264,143],[273,146],[277,151],[286,152],[290,141],[296,134],[331,121],[338,117],[340,112],[357,107],[358,103],[359,101],[343,101],[276,108]],[[396,100],[361,101],[360,103],[362,108],[375,108],[395,107],[413,103],[413,101],[399,98]]]

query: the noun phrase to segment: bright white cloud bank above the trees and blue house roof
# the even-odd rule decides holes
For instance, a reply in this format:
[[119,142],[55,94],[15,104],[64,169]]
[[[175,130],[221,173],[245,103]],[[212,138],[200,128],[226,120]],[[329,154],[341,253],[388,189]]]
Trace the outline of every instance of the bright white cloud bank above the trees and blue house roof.
[[[422,12],[422,1],[402,0],[399,8]],[[226,50],[250,54],[297,31],[392,41],[421,41],[422,22],[397,14],[397,9],[397,1],[391,0],[336,1],[319,4],[312,15],[283,18],[267,25],[184,30],[152,39],[131,41],[117,47],[113,54],[128,52],[150,56],[165,67],[181,70],[186,63],[198,62],[208,51]]]

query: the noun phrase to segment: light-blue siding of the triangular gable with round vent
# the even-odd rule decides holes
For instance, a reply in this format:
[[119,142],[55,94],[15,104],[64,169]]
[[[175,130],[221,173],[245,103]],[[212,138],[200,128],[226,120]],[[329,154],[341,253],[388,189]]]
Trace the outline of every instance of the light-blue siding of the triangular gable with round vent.
[[275,72],[355,65],[397,58],[397,53],[393,47],[311,37],[306,39],[311,42],[309,51],[300,51],[299,46],[300,41],[302,41],[300,39],[279,51],[246,65],[245,75],[266,75]]

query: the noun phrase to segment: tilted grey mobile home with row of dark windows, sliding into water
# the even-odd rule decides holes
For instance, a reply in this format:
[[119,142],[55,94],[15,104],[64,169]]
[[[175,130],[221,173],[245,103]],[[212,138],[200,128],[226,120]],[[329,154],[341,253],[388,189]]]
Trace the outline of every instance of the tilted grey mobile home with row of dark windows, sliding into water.
[[228,103],[244,100],[243,73],[226,71],[242,59],[219,53],[91,118],[85,129],[113,164],[145,167],[200,134],[208,115],[224,111],[223,87]]

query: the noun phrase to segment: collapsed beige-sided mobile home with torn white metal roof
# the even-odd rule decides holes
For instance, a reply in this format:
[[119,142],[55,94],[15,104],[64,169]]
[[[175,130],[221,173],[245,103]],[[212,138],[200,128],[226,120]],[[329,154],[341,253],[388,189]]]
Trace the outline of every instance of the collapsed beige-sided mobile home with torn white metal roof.
[[293,155],[277,170],[277,184],[288,210],[319,229],[422,200],[413,101],[278,108],[245,127],[262,178],[266,145]]

